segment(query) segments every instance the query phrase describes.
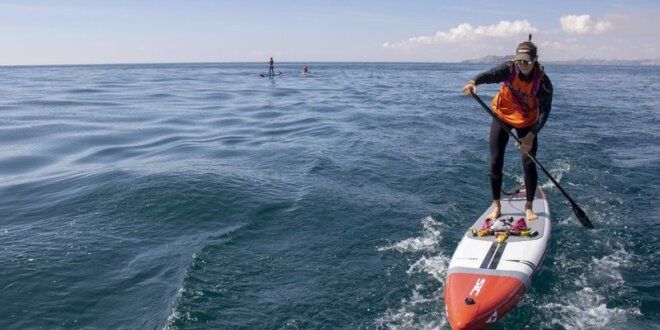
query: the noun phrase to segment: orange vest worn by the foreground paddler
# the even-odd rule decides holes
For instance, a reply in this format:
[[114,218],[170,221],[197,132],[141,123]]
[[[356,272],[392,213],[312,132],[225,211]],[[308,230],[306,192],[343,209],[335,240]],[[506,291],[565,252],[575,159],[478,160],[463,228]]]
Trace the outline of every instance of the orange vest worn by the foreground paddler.
[[524,82],[518,77],[515,63],[511,63],[509,80],[502,82],[502,87],[493,98],[493,112],[507,124],[515,128],[534,125],[539,117],[539,102],[536,94],[541,86],[543,69],[534,64],[534,79]]

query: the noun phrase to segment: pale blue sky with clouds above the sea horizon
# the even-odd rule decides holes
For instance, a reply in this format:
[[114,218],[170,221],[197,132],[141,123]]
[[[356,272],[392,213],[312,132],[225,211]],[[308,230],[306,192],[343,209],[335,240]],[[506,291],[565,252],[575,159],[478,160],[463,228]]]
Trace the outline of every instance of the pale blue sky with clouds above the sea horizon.
[[660,58],[659,0],[0,0],[0,65]]

